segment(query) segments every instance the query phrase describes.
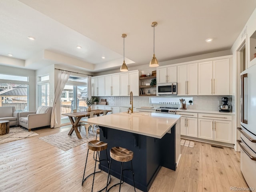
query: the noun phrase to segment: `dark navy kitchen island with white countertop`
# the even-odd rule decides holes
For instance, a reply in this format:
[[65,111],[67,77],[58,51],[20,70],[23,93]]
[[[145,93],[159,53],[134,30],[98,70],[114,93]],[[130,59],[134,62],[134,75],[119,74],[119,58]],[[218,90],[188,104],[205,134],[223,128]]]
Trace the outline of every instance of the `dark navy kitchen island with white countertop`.
[[[100,140],[112,147],[120,146],[134,152],[132,160],[135,187],[147,192],[161,166],[176,170],[180,160],[180,115],[160,113],[127,114],[127,112],[89,118],[100,127]],[[100,153],[101,159],[106,153]],[[124,164],[124,169],[130,163]],[[102,170],[108,165],[102,162]],[[120,162],[112,161],[110,174],[120,177]],[[132,174],[124,172],[124,182],[133,185]],[[111,185],[111,184],[110,184]]]

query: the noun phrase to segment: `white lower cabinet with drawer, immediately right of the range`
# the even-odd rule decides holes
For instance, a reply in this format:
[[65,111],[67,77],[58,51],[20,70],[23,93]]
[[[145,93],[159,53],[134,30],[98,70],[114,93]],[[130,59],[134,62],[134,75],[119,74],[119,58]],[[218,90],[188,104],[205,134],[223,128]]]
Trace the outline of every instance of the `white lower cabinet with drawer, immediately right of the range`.
[[198,137],[198,121],[197,113],[176,112],[177,115],[182,115],[180,118],[180,134],[190,137]]

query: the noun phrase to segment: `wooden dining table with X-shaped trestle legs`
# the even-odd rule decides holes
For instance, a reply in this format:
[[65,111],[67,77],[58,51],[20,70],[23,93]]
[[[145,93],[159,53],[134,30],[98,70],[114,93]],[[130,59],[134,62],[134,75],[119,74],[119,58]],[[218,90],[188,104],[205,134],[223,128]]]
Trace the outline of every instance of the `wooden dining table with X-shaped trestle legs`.
[[[100,109],[94,109],[94,110],[91,110],[91,112],[92,111],[95,112],[96,116],[100,116],[100,114],[103,114],[103,110],[100,110]],[[88,114],[88,112],[89,111],[82,111],[82,112],[73,112],[73,113],[62,114],[64,116],[68,116],[68,118],[72,124],[72,127],[71,127],[70,131],[68,132],[68,135],[72,135],[72,133],[75,131],[77,138],[82,139],[80,132],[78,131],[78,127],[80,126],[79,122],[80,122],[81,118],[90,116],[90,114]],[[108,112],[111,112],[111,110],[107,110],[107,113]],[[90,124],[87,124],[87,126],[90,126]],[[86,131],[86,136],[88,136],[87,131]]]

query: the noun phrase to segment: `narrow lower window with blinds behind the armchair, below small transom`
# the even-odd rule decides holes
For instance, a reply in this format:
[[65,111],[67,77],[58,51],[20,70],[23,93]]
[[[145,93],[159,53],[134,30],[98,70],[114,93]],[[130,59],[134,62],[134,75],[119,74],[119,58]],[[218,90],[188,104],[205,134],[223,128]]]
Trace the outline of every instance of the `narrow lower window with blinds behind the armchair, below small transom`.
[[49,83],[38,84],[38,106],[50,106]]

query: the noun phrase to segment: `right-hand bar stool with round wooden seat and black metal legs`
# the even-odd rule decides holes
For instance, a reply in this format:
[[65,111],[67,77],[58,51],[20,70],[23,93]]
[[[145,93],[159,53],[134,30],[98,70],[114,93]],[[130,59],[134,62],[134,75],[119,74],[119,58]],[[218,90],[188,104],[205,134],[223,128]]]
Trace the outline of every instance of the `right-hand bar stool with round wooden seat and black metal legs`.
[[[133,186],[134,186],[134,191],[136,192],[135,189],[135,182],[134,182],[134,172],[133,172],[133,167],[132,169],[124,169],[123,170],[123,164],[124,162],[131,162],[132,165],[132,159],[133,159],[133,152],[122,147],[113,147],[110,149],[110,164],[109,164],[109,169],[108,169],[108,177],[110,176],[110,167],[111,167],[111,161],[112,159],[121,162],[121,173],[120,173],[120,183],[114,184],[108,189],[108,180],[107,180],[107,185],[106,185],[106,191],[109,191],[112,187],[116,186],[119,184],[119,192],[121,190],[121,184],[124,183],[124,178],[123,178],[123,171],[128,170],[132,172],[132,177],[133,177]],[[110,178],[111,179],[111,178]],[[108,190],[107,190],[108,189]]]

